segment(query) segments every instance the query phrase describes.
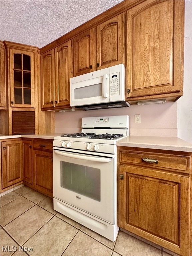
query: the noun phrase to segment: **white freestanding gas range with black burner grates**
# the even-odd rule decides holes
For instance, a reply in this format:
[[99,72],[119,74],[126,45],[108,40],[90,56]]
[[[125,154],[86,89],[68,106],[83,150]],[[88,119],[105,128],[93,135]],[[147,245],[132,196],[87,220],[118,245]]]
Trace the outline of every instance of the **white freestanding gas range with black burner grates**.
[[129,116],[82,118],[82,133],[53,141],[54,209],[115,241],[117,147],[129,135]]

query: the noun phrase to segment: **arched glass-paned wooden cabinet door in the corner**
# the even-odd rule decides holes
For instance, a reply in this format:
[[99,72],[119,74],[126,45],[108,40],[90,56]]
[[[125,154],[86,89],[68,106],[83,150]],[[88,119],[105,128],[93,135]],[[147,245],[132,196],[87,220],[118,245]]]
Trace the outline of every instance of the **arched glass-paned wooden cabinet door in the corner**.
[[35,107],[34,53],[9,49],[11,107]]

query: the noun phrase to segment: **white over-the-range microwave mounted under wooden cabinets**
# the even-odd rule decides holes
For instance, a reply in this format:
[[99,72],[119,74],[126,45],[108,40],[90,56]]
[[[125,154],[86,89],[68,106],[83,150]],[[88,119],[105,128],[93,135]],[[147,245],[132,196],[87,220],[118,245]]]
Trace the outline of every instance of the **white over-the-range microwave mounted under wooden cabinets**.
[[70,79],[71,107],[83,110],[129,107],[123,64]]

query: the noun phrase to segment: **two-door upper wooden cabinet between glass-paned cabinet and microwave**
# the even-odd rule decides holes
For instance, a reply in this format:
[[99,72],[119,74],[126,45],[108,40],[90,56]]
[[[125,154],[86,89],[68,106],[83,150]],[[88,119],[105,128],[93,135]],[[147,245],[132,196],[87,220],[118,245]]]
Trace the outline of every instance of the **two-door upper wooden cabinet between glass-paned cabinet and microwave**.
[[41,55],[42,109],[70,106],[71,40]]

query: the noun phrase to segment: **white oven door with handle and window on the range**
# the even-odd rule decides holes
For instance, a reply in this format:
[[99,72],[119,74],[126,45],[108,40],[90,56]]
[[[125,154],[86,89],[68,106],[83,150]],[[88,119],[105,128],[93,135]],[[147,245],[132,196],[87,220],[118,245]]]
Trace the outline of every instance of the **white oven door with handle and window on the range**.
[[115,159],[53,150],[53,195],[73,207],[114,223]]

